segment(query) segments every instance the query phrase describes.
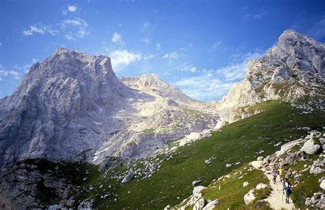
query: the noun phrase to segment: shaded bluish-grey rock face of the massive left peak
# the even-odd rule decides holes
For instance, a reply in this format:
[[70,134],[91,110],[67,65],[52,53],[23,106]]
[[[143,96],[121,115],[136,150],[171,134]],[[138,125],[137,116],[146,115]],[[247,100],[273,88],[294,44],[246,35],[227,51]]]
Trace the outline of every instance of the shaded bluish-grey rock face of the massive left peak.
[[93,120],[112,115],[128,94],[109,57],[58,49],[1,100],[0,166],[21,157],[60,159],[94,150],[105,136]]

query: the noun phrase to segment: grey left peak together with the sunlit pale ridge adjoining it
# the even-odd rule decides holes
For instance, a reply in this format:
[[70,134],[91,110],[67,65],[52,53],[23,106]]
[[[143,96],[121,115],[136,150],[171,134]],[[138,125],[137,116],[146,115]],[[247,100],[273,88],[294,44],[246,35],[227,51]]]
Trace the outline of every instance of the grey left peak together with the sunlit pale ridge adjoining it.
[[157,75],[122,81],[104,55],[61,48],[34,64],[0,99],[0,168],[25,157],[146,157],[217,123],[212,106]]

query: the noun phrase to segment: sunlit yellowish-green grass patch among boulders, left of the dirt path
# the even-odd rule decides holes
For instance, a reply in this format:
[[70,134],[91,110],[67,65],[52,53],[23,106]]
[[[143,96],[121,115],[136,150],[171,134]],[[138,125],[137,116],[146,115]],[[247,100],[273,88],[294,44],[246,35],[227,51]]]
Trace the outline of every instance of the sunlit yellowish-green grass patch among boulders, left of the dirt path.
[[[217,209],[245,209],[246,205],[243,197],[250,189],[253,189],[259,183],[268,184],[269,180],[261,170],[249,170],[250,166],[241,167],[234,170],[229,178],[221,179],[214,182],[206,189],[202,190],[204,198],[215,200],[219,198],[220,202]],[[243,178],[239,179],[240,176]],[[243,182],[248,181],[248,185],[243,187]],[[219,188],[220,187],[220,188]],[[256,189],[254,192],[256,200],[253,201],[251,207],[257,200],[263,200],[270,194],[270,189]]]

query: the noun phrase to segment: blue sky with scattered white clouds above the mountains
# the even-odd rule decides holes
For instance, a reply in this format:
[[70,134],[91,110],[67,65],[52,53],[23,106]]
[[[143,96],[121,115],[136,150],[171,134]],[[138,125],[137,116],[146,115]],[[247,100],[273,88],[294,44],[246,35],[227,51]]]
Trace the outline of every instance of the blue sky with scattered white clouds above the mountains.
[[[46,2],[46,3],[45,3]],[[112,59],[118,77],[157,73],[219,100],[285,29],[325,42],[325,1],[1,1],[0,98],[58,47]]]

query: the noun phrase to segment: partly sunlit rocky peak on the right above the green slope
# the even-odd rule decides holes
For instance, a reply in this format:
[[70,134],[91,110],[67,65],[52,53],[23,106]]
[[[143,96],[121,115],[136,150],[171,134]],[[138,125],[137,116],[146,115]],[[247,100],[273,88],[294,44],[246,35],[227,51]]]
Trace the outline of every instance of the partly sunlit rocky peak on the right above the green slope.
[[[304,96],[308,97],[307,101],[315,99],[322,104],[324,84],[325,44],[287,30],[266,55],[248,62],[246,77],[233,86],[216,106],[229,112],[229,109],[235,107],[267,100],[285,99],[293,102]],[[230,114],[224,120],[232,122],[235,119]]]

